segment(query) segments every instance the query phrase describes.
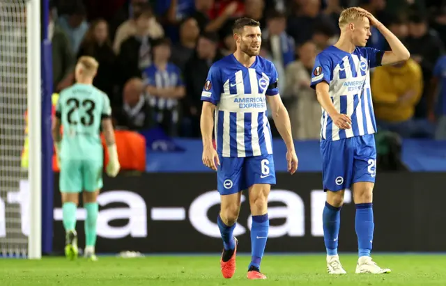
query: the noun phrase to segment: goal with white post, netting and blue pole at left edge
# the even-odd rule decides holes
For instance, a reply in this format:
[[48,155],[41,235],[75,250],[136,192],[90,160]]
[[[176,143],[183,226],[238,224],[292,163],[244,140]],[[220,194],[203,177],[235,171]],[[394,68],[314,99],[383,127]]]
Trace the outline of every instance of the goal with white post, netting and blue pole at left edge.
[[0,0],[0,258],[52,253],[49,0]]

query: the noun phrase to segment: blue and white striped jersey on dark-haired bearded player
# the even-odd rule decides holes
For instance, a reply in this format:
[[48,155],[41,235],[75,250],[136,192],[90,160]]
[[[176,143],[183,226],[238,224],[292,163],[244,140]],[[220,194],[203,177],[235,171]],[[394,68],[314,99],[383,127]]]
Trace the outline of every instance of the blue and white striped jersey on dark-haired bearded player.
[[201,100],[216,105],[217,153],[222,157],[272,154],[266,95],[278,94],[276,68],[261,56],[249,68],[233,54],[214,63]]

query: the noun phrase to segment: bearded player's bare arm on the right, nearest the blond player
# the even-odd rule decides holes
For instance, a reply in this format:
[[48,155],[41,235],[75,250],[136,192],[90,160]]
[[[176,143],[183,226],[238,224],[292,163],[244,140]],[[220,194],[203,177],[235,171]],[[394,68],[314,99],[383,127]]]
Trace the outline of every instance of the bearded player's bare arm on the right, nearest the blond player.
[[298,169],[298,156],[295,154],[293,136],[291,135],[291,122],[288,111],[286,110],[280,95],[268,96],[268,104],[271,106],[272,119],[275,122],[277,131],[286,145],[286,161],[288,162],[288,171],[294,174]]

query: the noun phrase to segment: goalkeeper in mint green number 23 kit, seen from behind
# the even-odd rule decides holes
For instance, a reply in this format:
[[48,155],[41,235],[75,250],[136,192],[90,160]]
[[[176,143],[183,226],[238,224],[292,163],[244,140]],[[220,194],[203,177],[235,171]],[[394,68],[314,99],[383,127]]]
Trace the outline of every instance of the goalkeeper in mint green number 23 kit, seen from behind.
[[[61,169],[59,189],[62,196],[63,226],[66,230],[65,254],[69,259],[77,257],[76,209],[82,192],[86,209],[85,257],[97,260],[95,255],[96,222],[98,221],[98,194],[102,188],[103,148],[100,125],[104,132],[109,163],[107,175],[115,177],[119,161],[114,141],[109,98],[95,88],[93,78],[98,62],[82,56],[76,65],[77,83],[62,90],[56,106],[56,118],[52,135]],[[60,129],[63,128],[63,136]]]

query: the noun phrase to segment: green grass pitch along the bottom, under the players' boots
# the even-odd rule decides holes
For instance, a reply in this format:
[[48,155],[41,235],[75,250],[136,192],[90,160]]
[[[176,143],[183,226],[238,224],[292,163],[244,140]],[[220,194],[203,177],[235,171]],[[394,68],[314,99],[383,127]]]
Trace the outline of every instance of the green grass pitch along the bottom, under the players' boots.
[[238,257],[237,271],[231,279],[222,278],[218,255],[99,257],[98,262],[80,257],[75,261],[63,257],[0,259],[0,285],[446,285],[446,255],[374,255],[378,265],[392,269],[392,273],[379,276],[355,274],[356,255],[340,257],[348,274],[329,276],[323,254],[267,254],[262,271],[268,279],[254,281],[246,278],[247,255]]

